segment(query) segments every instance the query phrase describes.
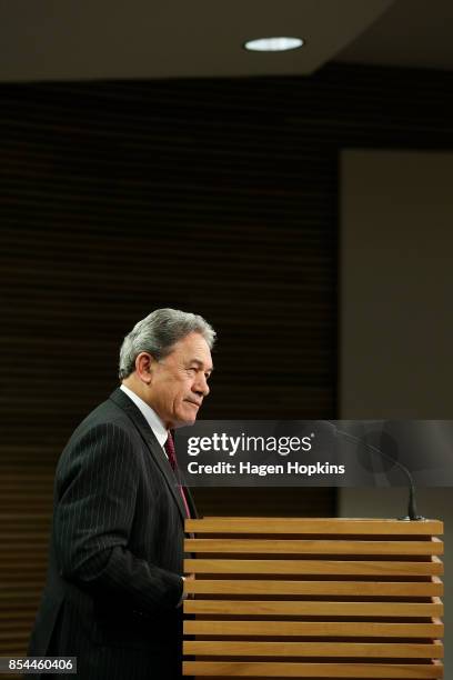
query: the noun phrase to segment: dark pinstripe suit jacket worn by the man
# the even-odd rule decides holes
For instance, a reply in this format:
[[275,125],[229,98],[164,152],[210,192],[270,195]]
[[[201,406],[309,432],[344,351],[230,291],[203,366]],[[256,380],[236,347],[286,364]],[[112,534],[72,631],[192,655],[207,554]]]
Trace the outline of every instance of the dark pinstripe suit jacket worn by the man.
[[165,454],[115,390],[77,428],[57,467],[29,656],[78,657],[83,680],[180,678],[183,519]]

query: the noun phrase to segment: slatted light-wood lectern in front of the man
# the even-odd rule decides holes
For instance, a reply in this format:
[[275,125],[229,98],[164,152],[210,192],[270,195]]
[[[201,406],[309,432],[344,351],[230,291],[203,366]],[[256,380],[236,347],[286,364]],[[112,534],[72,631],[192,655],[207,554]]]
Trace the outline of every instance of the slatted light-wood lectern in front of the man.
[[187,520],[183,674],[443,678],[437,520]]

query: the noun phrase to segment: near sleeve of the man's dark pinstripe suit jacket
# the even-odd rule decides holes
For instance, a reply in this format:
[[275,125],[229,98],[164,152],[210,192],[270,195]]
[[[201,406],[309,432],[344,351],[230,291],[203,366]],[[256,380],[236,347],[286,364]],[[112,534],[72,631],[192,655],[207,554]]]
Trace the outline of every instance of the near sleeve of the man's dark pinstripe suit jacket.
[[143,613],[177,607],[181,577],[128,549],[140,470],[127,432],[114,423],[92,428],[59,476],[54,528],[61,576]]

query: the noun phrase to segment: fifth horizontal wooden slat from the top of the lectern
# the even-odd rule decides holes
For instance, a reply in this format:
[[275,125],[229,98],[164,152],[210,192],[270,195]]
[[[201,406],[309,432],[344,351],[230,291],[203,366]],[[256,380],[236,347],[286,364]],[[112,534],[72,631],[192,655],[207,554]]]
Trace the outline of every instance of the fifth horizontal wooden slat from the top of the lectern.
[[306,602],[259,600],[184,600],[185,613],[311,617],[441,617],[443,604],[432,602]]

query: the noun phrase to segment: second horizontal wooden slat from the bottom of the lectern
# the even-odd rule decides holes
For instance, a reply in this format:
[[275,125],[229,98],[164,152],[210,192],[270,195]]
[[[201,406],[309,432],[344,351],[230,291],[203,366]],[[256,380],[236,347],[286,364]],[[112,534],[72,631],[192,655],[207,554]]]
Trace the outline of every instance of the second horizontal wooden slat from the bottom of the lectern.
[[389,659],[442,659],[443,646],[392,642],[225,642],[185,640],[184,654],[212,657],[368,657]]

